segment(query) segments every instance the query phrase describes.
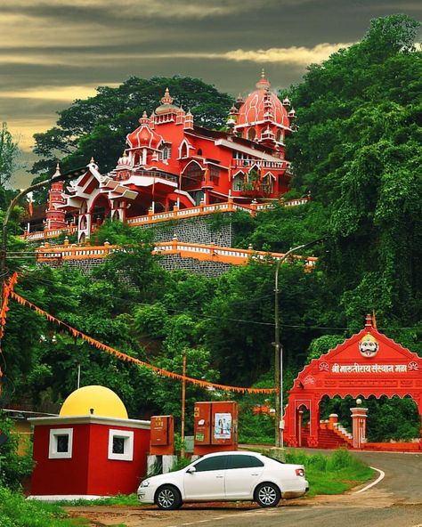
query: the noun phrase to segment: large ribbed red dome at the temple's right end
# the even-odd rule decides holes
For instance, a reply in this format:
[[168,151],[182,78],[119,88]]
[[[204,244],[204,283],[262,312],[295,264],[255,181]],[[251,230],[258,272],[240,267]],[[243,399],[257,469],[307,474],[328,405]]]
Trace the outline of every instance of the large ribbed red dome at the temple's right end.
[[239,108],[236,129],[263,123],[268,119],[269,109],[273,123],[290,127],[288,110],[283,106],[276,93],[270,90],[270,86],[271,84],[263,72],[260,80],[256,83],[256,90],[248,95],[246,101]]

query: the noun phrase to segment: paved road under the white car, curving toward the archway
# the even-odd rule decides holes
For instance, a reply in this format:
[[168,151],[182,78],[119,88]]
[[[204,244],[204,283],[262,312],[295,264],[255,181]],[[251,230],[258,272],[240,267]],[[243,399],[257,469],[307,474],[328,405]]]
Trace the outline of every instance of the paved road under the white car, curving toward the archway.
[[422,454],[359,452],[385,473],[366,491],[341,496],[282,501],[263,509],[255,504],[186,504],[177,511],[157,507],[71,507],[96,526],[127,527],[422,527]]

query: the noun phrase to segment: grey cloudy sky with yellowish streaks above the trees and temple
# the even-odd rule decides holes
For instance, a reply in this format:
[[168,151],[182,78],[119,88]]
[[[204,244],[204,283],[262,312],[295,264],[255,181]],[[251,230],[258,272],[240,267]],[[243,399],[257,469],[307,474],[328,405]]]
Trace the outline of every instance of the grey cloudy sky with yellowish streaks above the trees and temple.
[[130,76],[200,77],[247,94],[264,67],[274,88],[288,86],[394,12],[422,20],[422,2],[3,0],[0,120],[28,151],[57,110]]

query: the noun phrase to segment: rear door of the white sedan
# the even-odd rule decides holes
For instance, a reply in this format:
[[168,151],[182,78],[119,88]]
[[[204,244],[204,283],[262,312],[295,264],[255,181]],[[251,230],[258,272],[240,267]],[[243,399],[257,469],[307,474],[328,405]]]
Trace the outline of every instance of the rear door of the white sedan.
[[264,461],[253,455],[227,456],[225,471],[226,499],[252,499],[256,484],[264,472]]

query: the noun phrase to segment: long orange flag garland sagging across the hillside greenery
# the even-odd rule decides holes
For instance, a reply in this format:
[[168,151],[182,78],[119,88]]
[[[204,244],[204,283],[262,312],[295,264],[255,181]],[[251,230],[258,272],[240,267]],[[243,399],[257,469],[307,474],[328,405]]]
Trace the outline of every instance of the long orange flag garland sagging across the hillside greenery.
[[[12,278],[12,280],[13,280],[13,278]],[[199,385],[199,386],[204,387],[204,388],[205,387],[209,387],[209,388],[213,388],[215,390],[221,390],[223,392],[236,392],[236,393],[275,393],[275,392],[277,392],[276,388],[247,388],[247,387],[243,387],[243,386],[219,385],[217,383],[211,383],[211,382],[204,381],[204,380],[199,380],[199,379],[196,379],[196,378],[193,378],[193,377],[183,376],[183,375],[181,375],[179,373],[174,373],[174,372],[168,371],[166,369],[158,368],[158,366],[153,366],[152,364],[149,364],[148,362],[141,361],[140,359],[136,359],[134,357],[131,357],[130,355],[128,355],[126,353],[122,353],[122,352],[112,348],[109,345],[105,345],[105,344],[101,343],[100,341],[96,340],[92,336],[85,335],[85,333],[83,333],[82,331],[79,331],[76,328],[72,328],[66,322],[63,322],[62,320],[57,319],[56,317],[54,317],[50,313],[45,312],[43,309],[38,307],[36,304],[32,304],[26,298],[23,298],[23,296],[18,295],[13,290],[13,285],[16,283],[17,277],[14,279],[13,282],[12,282],[12,280],[9,282],[8,286],[4,284],[4,288],[7,288],[7,302],[4,302],[3,308],[2,308],[2,312],[1,312],[1,331],[2,332],[4,331],[4,324],[5,324],[5,320],[6,320],[6,312],[9,309],[7,303],[8,303],[8,299],[9,299],[9,296],[10,296],[13,300],[16,300],[17,302],[19,302],[19,304],[27,306],[28,308],[30,308],[33,311],[37,312],[39,315],[44,316],[50,322],[53,322],[53,323],[57,324],[61,328],[65,328],[75,338],[81,338],[82,340],[85,340],[85,342],[89,343],[90,345],[93,345],[93,347],[95,347],[97,349],[100,349],[100,350],[102,350],[102,351],[104,351],[106,353],[110,353],[111,355],[114,355],[115,357],[117,357],[118,359],[120,359],[122,361],[134,362],[134,364],[138,364],[139,366],[142,366],[144,368],[152,369],[153,371],[155,371],[160,376],[169,377],[169,378],[185,381],[187,383],[191,383],[192,385]],[[5,291],[5,289],[4,289],[4,291]],[[3,336],[3,333],[0,333],[0,335]]]

